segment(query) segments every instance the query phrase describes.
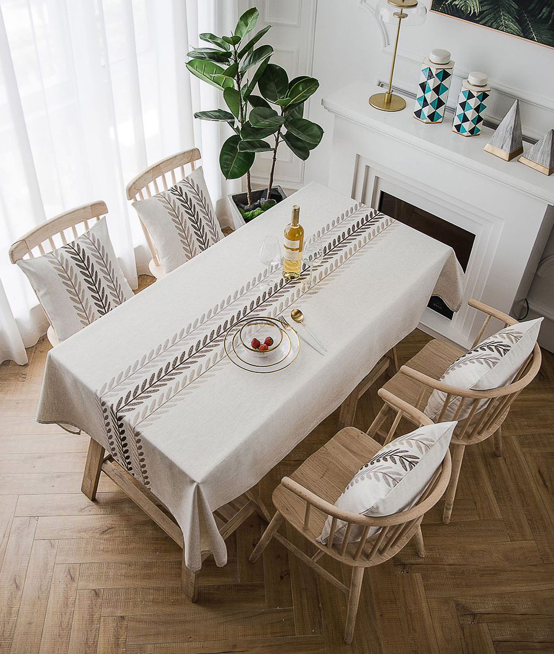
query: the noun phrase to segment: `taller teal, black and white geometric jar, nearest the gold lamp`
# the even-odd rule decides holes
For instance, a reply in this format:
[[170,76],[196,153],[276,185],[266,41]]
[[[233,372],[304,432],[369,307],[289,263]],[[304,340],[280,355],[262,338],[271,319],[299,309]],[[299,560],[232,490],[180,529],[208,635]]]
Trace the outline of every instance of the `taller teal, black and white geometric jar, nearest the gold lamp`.
[[424,123],[442,122],[454,61],[450,60],[450,52],[435,48],[423,60],[420,82],[414,106],[414,117]]

